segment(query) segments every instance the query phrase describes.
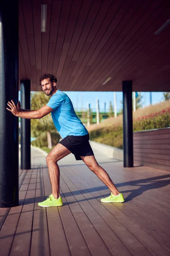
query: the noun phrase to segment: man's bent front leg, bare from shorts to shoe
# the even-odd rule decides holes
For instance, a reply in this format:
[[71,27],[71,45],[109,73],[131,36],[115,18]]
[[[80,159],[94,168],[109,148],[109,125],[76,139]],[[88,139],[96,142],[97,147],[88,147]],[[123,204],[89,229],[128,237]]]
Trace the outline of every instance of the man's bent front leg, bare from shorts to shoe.
[[58,143],[48,154],[46,157],[46,162],[48,166],[50,181],[51,181],[51,187],[52,187],[52,195],[54,198],[58,199],[60,197],[59,194],[59,166],[57,164],[57,161],[62,159],[63,157],[70,154],[71,151],[69,151],[65,146]]

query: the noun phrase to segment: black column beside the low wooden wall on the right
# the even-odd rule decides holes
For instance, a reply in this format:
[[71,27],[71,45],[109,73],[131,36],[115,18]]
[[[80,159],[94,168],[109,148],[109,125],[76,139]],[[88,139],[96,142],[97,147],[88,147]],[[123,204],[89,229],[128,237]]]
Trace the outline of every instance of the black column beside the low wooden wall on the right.
[[123,81],[122,85],[124,167],[133,167],[132,81]]

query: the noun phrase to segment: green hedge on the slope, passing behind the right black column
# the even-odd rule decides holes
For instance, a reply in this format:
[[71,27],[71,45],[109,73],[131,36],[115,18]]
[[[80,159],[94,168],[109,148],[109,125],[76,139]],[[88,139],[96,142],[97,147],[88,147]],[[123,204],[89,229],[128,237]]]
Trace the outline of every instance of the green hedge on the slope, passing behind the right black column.
[[[170,108],[133,120],[133,131],[170,127]],[[90,139],[116,148],[123,148],[123,127],[100,128],[90,131]]]

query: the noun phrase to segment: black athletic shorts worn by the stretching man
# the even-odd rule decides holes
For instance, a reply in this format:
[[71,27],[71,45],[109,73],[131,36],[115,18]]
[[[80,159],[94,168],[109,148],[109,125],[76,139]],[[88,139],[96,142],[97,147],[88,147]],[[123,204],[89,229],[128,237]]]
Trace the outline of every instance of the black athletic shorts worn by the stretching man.
[[89,143],[89,134],[84,136],[73,136],[68,135],[63,140],[59,142],[68,150],[74,154],[76,160],[82,160],[80,157],[93,156],[93,150]]

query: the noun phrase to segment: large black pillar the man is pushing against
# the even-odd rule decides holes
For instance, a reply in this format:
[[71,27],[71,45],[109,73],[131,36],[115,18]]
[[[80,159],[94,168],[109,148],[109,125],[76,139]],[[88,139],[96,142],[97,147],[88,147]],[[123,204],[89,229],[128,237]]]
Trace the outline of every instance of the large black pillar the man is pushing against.
[[[18,118],[6,108],[18,102],[18,0],[0,1],[0,207],[19,204]],[[9,107],[8,107],[9,108]]]

